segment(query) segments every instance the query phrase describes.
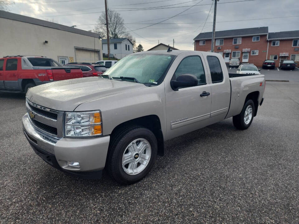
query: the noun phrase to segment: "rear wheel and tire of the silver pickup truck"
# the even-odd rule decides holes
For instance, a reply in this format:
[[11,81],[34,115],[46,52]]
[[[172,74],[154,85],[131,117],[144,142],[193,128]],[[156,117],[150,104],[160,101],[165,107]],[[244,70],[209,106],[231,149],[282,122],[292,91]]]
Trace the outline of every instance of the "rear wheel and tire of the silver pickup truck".
[[245,130],[249,128],[254,117],[254,102],[252,100],[247,100],[243,106],[240,114],[233,116],[233,124],[235,128],[240,130]]

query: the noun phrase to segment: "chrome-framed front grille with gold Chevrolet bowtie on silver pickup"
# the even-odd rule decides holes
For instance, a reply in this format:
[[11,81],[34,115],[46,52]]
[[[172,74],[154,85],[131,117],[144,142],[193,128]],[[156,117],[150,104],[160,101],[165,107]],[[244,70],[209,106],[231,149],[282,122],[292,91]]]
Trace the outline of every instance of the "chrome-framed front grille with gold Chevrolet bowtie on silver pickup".
[[31,124],[48,137],[60,139],[63,137],[63,111],[52,110],[26,99],[27,113]]

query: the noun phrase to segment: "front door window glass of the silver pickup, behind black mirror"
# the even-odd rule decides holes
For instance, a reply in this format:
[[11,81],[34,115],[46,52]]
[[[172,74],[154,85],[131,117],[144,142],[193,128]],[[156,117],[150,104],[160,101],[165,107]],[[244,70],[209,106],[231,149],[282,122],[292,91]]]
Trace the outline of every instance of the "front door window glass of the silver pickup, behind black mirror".
[[206,84],[206,76],[202,66],[202,60],[199,56],[190,56],[181,61],[177,70],[174,72],[175,79],[183,74],[195,75],[198,80],[197,85]]

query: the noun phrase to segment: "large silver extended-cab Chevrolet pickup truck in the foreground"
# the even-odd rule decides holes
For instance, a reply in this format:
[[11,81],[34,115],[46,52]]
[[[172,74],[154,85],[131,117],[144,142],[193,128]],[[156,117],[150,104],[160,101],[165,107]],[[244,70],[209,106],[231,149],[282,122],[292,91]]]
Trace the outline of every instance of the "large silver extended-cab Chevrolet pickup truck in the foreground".
[[146,51],[121,59],[102,77],[30,89],[24,134],[45,162],[121,184],[142,179],[164,141],[233,117],[250,126],[263,102],[263,75],[229,74],[220,54]]

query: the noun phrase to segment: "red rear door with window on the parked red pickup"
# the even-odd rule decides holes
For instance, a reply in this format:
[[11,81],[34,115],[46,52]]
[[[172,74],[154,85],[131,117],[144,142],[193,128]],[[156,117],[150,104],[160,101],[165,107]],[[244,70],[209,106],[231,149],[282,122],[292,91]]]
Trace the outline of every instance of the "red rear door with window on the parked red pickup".
[[7,58],[3,71],[4,86],[7,90],[19,90],[18,58]]

